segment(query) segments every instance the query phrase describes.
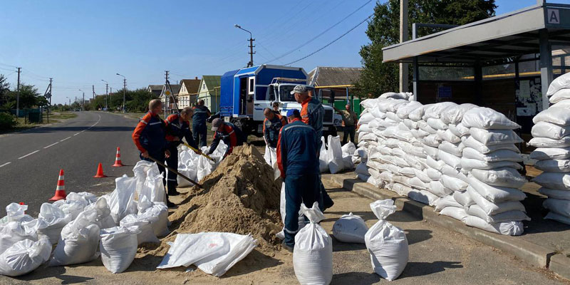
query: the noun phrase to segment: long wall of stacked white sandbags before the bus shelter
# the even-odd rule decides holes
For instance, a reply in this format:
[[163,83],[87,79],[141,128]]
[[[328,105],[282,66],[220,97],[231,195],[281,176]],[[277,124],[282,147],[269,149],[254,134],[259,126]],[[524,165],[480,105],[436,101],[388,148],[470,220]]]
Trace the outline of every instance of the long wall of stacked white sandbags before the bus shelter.
[[409,98],[386,93],[361,103],[358,177],[472,227],[521,234],[529,218],[519,202],[519,125],[473,104]]

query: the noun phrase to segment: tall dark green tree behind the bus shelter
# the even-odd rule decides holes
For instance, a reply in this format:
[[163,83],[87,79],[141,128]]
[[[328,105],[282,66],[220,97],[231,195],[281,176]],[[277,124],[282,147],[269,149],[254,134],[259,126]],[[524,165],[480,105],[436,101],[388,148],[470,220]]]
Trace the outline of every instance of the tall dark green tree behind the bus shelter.
[[[409,0],[408,33],[412,34],[413,23],[463,25],[494,16],[497,6],[494,0]],[[420,28],[418,36],[435,32]],[[399,69],[397,63],[382,63],[382,48],[400,42],[400,0],[376,4],[374,16],[368,22],[366,36],[371,43],[362,46],[363,71],[356,83],[356,92],[367,97],[397,91]],[[411,66],[410,66],[411,68]],[[410,74],[410,83],[412,72]]]

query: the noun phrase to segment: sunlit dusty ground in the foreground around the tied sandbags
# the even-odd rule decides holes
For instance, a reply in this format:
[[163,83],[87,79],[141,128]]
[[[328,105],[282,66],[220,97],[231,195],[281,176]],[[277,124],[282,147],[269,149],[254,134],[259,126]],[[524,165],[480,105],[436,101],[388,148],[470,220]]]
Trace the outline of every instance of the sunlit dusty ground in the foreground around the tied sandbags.
[[[343,190],[323,175],[334,199],[321,225],[331,234],[333,223],[342,214],[358,214],[371,227],[377,219],[370,210],[371,199]],[[185,189],[180,189],[184,192]],[[447,229],[418,220],[406,212],[396,212],[388,220],[405,230],[410,244],[410,260],[392,284],[570,284],[545,270],[524,264],[508,254],[484,246]],[[218,278],[195,266],[157,270],[161,257],[135,259],[121,274],[111,274],[100,259],[76,266],[41,266],[26,276],[0,276],[0,284],[297,284],[293,255],[285,250],[268,256],[254,250],[227,274]],[[150,265],[152,266],[150,266]],[[333,238],[333,281],[331,284],[381,284],[373,273],[364,244],[343,244]]]

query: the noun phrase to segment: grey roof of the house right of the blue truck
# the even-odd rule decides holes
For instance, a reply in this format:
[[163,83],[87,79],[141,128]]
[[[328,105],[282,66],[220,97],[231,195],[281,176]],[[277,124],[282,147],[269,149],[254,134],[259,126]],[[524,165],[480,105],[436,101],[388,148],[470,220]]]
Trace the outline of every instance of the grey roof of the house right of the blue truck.
[[362,68],[317,66],[309,72],[313,86],[352,85],[361,76]]

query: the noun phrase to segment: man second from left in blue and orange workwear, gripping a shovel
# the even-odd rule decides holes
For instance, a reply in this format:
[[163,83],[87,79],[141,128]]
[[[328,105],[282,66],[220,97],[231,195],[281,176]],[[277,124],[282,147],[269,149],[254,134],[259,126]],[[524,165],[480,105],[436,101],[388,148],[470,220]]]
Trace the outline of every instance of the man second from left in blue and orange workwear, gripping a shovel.
[[[182,144],[182,139],[185,138],[188,145],[194,147],[197,154],[200,153],[199,147],[192,138],[192,132],[190,131],[190,117],[194,110],[190,107],[182,109],[180,114],[169,115],[165,120],[166,125],[166,140],[168,142],[168,150],[170,151],[170,157],[166,159],[166,164],[168,167],[178,169],[178,145]],[[180,195],[176,191],[178,186],[177,176],[175,172],[168,171],[166,185],[167,185],[167,195],[176,196]]]

